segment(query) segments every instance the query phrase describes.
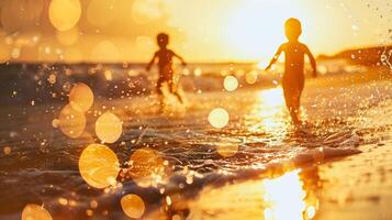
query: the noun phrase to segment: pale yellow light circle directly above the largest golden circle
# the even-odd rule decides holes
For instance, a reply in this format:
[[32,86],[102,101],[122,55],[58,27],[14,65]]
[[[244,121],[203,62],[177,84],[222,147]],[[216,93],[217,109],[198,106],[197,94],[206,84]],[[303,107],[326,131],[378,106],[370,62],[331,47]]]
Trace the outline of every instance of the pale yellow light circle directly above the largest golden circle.
[[113,113],[100,116],[96,122],[96,134],[103,143],[114,143],[123,132],[123,122]]

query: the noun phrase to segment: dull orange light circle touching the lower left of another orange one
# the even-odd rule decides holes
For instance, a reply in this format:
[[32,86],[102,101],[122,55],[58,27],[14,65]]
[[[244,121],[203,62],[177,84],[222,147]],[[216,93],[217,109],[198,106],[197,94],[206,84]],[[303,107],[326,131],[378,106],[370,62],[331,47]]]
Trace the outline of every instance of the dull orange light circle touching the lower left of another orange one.
[[65,135],[77,139],[85,131],[86,117],[83,112],[75,110],[71,105],[67,105],[60,111],[56,124],[58,124]]

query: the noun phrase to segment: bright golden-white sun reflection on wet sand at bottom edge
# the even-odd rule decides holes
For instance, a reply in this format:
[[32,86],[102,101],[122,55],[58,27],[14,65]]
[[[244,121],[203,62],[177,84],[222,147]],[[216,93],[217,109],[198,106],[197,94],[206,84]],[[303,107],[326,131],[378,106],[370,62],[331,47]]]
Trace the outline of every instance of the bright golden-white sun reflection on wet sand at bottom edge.
[[313,219],[317,199],[306,189],[301,169],[278,178],[204,188],[190,205],[189,219]]

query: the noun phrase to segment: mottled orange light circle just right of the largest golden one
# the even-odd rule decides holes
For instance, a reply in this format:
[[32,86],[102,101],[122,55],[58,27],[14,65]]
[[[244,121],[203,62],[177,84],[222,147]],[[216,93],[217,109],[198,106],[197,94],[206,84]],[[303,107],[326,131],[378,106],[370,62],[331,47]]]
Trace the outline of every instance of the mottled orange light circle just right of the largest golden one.
[[167,178],[168,169],[158,152],[136,150],[130,157],[130,176],[141,187],[156,186]]

